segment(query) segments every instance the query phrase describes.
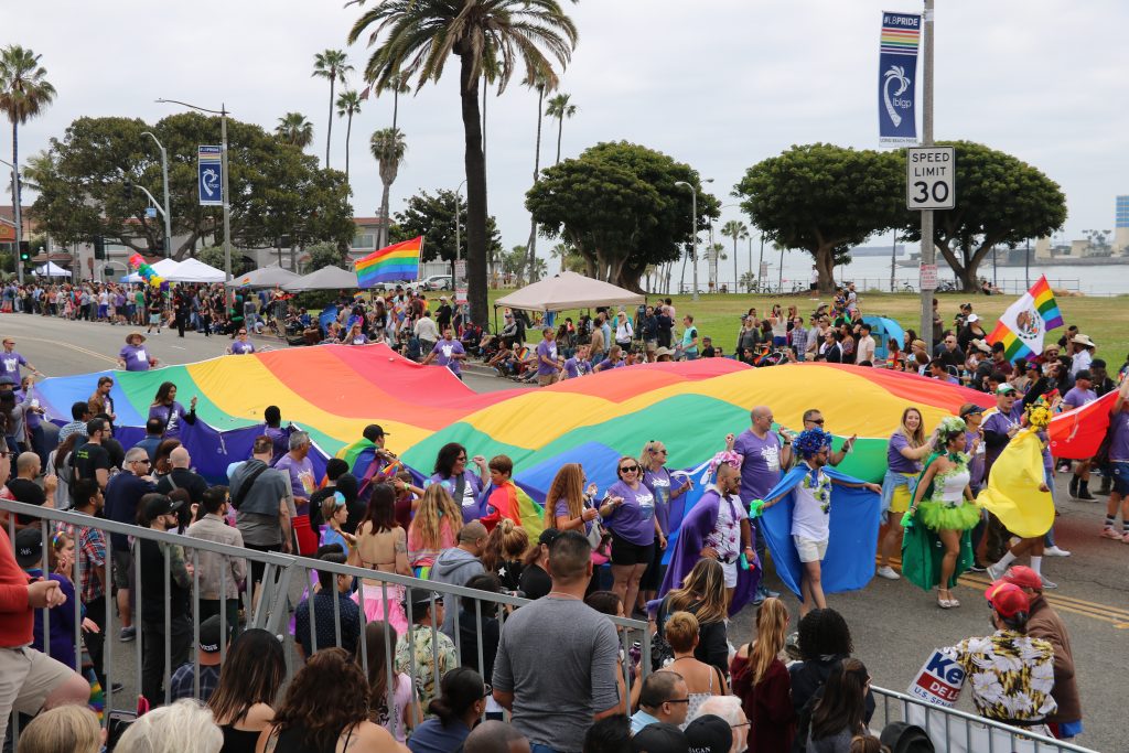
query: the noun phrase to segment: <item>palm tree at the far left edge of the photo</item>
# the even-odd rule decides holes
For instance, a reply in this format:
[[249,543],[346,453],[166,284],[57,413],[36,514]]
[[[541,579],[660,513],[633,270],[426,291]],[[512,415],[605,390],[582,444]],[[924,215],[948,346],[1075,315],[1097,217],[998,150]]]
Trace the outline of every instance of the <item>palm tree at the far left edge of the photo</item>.
[[[0,111],[11,122],[12,219],[16,220],[16,239],[23,238],[23,217],[19,191],[19,126],[35,117],[55,98],[55,87],[47,80],[47,69],[40,64],[41,55],[18,44],[0,50]],[[19,279],[24,265],[16,264]]]

